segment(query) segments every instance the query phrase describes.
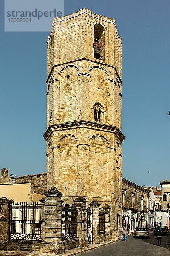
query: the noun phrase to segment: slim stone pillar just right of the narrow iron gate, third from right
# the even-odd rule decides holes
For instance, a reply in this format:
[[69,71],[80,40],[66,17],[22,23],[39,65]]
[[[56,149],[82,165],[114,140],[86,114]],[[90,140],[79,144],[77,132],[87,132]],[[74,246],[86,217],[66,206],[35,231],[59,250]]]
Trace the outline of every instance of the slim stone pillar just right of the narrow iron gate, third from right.
[[93,222],[93,244],[99,244],[99,206],[100,204],[94,200],[90,204],[92,211]]

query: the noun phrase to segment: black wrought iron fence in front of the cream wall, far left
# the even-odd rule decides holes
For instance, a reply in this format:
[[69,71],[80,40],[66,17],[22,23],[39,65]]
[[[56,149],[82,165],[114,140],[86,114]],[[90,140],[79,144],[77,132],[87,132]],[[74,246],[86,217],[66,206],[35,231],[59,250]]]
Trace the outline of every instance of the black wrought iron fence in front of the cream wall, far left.
[[41,240],[41,204],[26,202],[10,206],[10,239]]

